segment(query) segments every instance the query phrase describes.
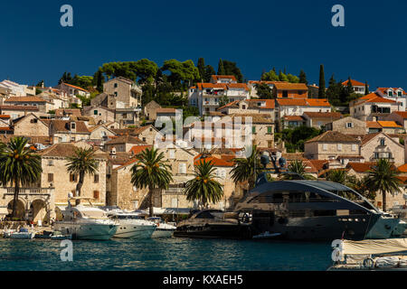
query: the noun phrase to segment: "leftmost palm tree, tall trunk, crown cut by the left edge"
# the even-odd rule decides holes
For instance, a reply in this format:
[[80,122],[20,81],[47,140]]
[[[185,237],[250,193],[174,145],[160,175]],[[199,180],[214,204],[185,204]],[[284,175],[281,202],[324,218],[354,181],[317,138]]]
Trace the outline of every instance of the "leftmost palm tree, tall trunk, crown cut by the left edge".
[[18,194],[21,186],[37,182],[41,178],[41,157],[27,147],[28,140],[14,137],[8,144],[0,145],[0,182],[14,183],[13,218],[17,214]]

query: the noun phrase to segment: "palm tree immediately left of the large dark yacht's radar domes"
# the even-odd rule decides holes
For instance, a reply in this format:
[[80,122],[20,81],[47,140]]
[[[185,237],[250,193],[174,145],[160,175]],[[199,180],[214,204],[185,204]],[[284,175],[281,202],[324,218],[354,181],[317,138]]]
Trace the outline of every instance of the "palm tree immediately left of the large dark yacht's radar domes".
[[233,159],[233,162],[236,163],[236,166],[231,171],[233,181],[248,182],[249,191],[251,191],[261,170],[257,146],[253,145],[250,157]]

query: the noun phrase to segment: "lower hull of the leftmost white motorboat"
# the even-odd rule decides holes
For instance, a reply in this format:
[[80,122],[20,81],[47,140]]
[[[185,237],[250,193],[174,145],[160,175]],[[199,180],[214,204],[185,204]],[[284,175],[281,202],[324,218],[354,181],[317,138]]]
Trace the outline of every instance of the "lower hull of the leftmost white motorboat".
[[61,231],[63,235],[71,235],[72,239],[109,240],[116,234],[118,225],[56,222],[54,229]]

